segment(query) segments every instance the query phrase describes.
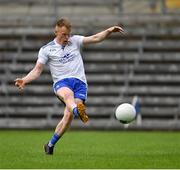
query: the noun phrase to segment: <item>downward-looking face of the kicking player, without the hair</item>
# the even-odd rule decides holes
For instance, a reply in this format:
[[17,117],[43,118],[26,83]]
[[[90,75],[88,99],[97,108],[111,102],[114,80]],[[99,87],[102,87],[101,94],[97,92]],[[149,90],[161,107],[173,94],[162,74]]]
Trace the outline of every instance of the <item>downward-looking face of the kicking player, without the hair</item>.
[[56,26],[56,28],[55,28],[55,35],[56,35],[57,41],[61,45],[66,45],[68,43],[70,33],[71,33],[71,30],[69,30],[65,26],[63,26],[63,27]]

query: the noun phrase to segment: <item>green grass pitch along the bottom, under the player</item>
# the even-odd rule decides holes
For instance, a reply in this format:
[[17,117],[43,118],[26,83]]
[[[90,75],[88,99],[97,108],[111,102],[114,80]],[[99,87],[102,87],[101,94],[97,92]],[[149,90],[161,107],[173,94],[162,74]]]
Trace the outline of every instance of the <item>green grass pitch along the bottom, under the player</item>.
[[53,156],[53,131],[0,131],[0,169],[180,168],[179,132],[68,131]]

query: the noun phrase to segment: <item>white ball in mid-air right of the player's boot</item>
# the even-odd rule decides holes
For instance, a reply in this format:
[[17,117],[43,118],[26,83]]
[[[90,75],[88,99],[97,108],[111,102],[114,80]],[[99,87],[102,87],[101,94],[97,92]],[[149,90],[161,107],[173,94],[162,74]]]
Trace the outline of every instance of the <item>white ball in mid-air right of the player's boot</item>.
[[132,104],[123,103],[116,108],[115,116],[121,123],[127,124],[136,118],[136,110]]

